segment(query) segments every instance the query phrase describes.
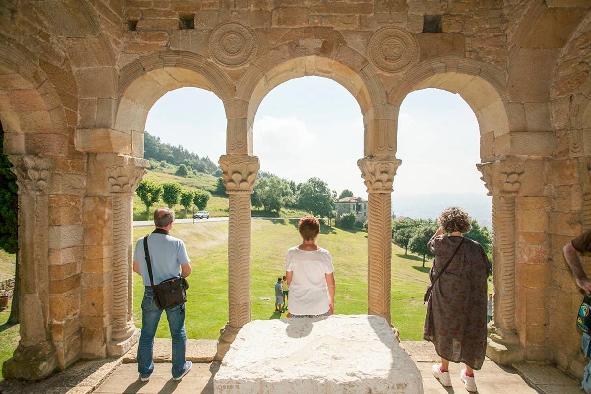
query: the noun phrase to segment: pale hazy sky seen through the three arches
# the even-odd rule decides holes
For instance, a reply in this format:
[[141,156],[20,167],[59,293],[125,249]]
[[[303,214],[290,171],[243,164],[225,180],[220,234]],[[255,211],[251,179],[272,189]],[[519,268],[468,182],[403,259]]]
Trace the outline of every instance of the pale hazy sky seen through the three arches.
[[[212,93],[186,87],[161,97],[146,131],[213,161],[225,152],[226,119]],[[366,197],[356,165],[363,156],[363,118],[352,95],[333,80],[293,79],[262,100],[253,132],[261,170],[306,181],[319,177],[339,193]],[[410,93],[402,103],[394,194],[486,193],[476,117],[459,95],[438,89]]]

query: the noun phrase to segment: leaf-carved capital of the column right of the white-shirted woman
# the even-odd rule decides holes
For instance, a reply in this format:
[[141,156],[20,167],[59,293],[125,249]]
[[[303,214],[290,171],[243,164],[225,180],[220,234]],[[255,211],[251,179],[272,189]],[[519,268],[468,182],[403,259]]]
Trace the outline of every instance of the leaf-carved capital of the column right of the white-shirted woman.
[[368,193],[391,193],[392,182],[402,160],[395,156],[366,156],[357,161]]

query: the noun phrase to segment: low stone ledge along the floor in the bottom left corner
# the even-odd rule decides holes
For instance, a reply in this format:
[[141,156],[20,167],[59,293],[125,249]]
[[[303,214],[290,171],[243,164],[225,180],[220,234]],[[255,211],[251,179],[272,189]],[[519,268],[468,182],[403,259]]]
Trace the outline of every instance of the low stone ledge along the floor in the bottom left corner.
[[67,370],[38,382],[8,379],[0,382],[2,394],[87,394],[93,392],[119,365],[122,358],[79,361]]

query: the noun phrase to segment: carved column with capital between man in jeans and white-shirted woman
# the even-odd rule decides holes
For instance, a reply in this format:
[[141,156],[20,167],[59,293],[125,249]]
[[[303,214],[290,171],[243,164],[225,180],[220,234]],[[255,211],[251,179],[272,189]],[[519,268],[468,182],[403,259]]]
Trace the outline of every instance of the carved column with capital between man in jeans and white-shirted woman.
[[251,321],[251,193],[259,160],[249,155],[219,159],[228,193],[228,323],[220,330],[221,360],[243,325]]

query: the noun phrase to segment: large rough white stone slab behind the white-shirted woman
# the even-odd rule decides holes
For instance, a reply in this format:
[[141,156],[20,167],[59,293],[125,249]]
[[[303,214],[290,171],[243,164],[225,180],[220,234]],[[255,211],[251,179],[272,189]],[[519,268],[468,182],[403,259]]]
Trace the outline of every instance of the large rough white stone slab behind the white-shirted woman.
[[387,321],[368,315],[252,321],[213,385],[216,394],[423,393]]

